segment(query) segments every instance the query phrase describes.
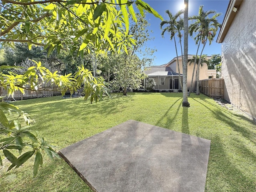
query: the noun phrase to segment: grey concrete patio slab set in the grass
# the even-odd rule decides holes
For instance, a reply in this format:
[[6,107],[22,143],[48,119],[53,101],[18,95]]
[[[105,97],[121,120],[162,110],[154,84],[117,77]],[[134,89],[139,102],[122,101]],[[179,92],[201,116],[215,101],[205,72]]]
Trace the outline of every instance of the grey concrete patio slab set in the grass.
[[59,151],[94,192],[204,192],[210,140],[128,120]]

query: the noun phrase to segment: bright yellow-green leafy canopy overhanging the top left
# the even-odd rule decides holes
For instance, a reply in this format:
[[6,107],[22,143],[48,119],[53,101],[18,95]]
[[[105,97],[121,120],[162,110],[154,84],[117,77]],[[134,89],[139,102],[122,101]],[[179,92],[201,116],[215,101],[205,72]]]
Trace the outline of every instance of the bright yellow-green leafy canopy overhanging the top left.
[[52,50],[102,52],[127,50],[136,44],[128,34],[133,5],[162,19],[142,0],[2,0],[2,42],[26,42]]

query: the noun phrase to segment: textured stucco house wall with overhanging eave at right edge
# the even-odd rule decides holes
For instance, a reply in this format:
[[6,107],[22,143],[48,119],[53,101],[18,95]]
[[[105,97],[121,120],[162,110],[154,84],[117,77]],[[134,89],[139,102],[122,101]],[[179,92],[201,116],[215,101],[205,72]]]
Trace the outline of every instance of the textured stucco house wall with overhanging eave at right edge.
[[217,42],[222,43],[224,99],[256,119],[256,2],[230,0]]

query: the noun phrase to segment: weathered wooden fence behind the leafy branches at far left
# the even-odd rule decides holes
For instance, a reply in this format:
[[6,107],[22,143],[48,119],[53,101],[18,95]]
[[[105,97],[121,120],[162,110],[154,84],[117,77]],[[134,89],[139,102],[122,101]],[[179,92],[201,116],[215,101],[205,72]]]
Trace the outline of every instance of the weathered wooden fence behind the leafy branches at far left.
[[[52,97],[61,95],[61,92],[57,90],[57,86],[55,84],[51,84],[51,82],[40,84],[39,89],[46,89],[46,90],[26,90],[25,94],[23,94],[20,90],[14,92],[13,96],[8,96],[7,90],[5,90],[2,86],[0,86],[0,96],[5,96],[3,100],[24,100],[24,99],[33,99],[33,98],[40,98],[40,97]],[[49,91],[50,90],[50,91]],[[70,93],[67,91],[66,93]]]

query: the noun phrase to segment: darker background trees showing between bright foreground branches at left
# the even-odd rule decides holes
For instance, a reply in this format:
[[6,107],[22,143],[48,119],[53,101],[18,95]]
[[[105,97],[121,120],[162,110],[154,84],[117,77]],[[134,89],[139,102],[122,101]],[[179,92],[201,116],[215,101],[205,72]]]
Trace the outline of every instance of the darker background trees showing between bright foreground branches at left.
[[[19,74],[26,72],[26,70],[34,66],[34,62],[28,59],[41,62],[42,66],[48,68],[52,72],[58,70],[62,75],[76,72],[77,66],[81,64],[80,56],[73,54],[71,56],[66,50],[60,50],[59,54],[54,50],[49,56],[47,50],[43,46],[32,46],[31,50],[28,49],[26,43],[15,43],[13,47],[4,46],[0,52],[0,65],[21,66],[22,70],[18,70]],[[86,63],[84,57],[84,63]],[[85,65],[86,67],[88,65]]]

